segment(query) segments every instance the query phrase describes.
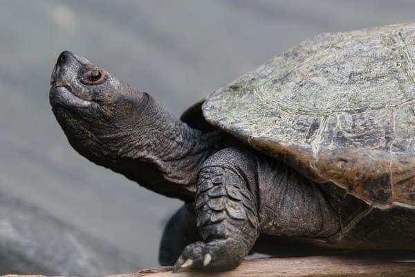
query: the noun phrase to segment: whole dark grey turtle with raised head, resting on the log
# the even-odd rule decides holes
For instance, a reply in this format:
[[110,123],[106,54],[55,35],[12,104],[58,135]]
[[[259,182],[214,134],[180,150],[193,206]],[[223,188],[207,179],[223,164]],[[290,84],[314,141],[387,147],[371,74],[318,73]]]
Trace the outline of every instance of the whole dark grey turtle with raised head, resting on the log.
[[50,105],[86,159],[185,202],[160,244],[174,270],[233,269],[259,241],[411,251],[414,61],[412,23],[324,33],[179,119],[64,51]]

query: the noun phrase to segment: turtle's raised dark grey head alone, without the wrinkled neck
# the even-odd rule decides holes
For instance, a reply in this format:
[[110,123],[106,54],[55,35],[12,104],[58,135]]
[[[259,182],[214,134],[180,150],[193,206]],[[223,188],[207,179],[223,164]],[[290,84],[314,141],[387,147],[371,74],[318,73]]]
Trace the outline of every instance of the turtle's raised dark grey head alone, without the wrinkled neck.
[[114,138],[140,122],[148,98],[69,51],[57,58],[50,85],[50,105],[69,143],[93,161],[118,155],[123,138]]

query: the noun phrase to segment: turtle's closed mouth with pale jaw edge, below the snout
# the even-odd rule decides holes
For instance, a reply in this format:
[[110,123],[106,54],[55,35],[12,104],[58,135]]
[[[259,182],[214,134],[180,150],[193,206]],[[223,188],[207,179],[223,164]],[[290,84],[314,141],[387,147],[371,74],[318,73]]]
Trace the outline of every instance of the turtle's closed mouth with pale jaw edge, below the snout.
[[49,102],[52,107],[63,105],[64,107],[86,108],[91,106],[92,102],[76,96],[72,88],[68,85],[57,85],[56,82],[50,82],[52,86],[49,92]]

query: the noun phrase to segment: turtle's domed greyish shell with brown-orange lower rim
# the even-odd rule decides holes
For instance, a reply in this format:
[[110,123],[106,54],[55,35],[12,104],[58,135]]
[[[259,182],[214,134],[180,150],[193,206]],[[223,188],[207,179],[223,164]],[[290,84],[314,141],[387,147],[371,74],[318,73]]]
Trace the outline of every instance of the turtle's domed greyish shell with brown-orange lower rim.
[[415,208],[414,62],[415,24],[317,35],[214,91],[203,116],[371,206]]

